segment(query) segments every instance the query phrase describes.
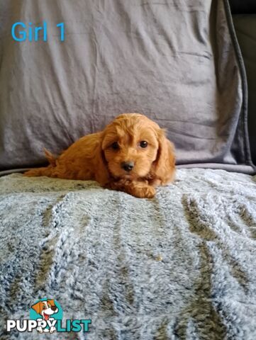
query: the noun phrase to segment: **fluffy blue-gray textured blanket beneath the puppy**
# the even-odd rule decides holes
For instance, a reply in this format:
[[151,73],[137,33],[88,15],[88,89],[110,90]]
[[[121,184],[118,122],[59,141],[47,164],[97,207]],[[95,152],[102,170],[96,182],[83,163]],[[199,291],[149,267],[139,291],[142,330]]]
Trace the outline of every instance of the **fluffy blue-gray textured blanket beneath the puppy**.
[[[152,200],[0,179],[0,339],[256,339],[256,176],[181,169]],[[88,334],[6,334],[43,297]]]

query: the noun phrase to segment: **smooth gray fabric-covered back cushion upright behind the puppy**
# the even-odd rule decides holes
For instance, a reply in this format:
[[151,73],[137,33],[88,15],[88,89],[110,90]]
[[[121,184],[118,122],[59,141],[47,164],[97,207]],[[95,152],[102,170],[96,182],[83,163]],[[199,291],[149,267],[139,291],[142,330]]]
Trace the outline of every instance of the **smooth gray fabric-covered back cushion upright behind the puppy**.
[[[0,169],[43,164],[43,147],[58,154],[116,115],[140,112],[167,128],[177,164],[254,172],[227,6],[0,0]],[[13,23],[28,35],[43,21],[47,41],[43,30],[38,41],[13,40]]]

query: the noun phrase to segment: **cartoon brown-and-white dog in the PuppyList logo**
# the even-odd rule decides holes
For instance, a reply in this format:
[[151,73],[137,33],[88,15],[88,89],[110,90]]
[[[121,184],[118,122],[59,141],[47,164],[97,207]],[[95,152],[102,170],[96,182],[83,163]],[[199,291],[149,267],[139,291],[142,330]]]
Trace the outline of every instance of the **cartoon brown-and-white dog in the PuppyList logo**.
[[[46,300],[46,301],[38,301],[37,303],[35,303],[35,305],[31,306],[31,308],[33,310],[35,310],[35,312],[37,312],[38,314],[42,315],[42,319],[38,319],[39,320],[45,320],[46,322],[52,321],[54,320],[54,318],[52,318],[52,314],[55,314],[58,312],[58,308],[57,306],[55,306],[55,302],[54,300]],[[43,333],[43,331],[50,331],[50,333],[52,333],[53,331],[56,331],[55,327],[50,327],[49,329],[43,329],[43,327],[38,327],[37,329],[40,333]]]

